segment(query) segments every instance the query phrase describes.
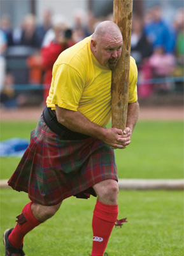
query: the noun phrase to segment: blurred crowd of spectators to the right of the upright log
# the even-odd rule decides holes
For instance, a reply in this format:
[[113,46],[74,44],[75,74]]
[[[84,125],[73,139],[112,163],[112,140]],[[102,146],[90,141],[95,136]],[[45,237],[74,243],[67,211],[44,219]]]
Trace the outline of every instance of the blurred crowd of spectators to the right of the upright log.
[[[131,55],[138,65],[141,81],[159,81],[160,78],[182,77],[184,64],[184,9],[176,12],[168,24],[162,18],[162,9],[155,6],[146,10],[144,17],[133,15]],[[160,79],[164,80],[164,79]],[[169,79],[167,79],[169,81]],[[183,83],[177,90],[183,90]],[[167,92],[173,83],[140,83],[139,97],[153,95],[154,91]]]

